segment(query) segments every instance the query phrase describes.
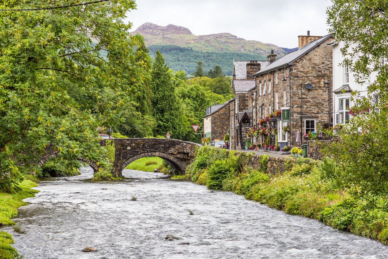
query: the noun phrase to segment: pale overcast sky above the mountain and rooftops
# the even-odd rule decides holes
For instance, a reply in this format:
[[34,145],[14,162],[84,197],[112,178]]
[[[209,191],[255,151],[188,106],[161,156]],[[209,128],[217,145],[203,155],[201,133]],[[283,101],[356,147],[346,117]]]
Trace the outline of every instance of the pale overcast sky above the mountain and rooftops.
[[231,33],[246,40],[298,47],[298,36],[327,35],[331,0],[137,0],[127,14],[133,30],[145,22],[188,28],[194,35]]

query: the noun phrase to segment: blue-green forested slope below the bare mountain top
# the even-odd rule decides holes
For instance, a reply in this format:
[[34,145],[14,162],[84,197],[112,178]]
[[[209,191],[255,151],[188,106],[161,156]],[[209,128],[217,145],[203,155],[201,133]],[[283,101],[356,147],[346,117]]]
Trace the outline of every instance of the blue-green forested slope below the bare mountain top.
[[184,70],[187,74],[194,73],[198,61],[202,61],[206,73],[214,66],[219,65],[225,75],[231,76],[233,60],[267,60],[267,56],[260,54],[208,52],[176,45],[152,45],[148,48],[152,58],[155,58],[155,52],[159,50],[172,70]]

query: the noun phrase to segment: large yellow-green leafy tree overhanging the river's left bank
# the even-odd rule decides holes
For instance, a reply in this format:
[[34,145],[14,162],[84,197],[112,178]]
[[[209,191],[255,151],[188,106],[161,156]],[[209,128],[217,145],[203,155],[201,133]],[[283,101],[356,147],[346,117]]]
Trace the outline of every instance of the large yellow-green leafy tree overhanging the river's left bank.
[[[34,7],[46,5],[0,3],[2,9]],[[123,22],[134,8],[134,1],[123,0],[1,12],[0,191],[36,170],[46,149],[62,160],[104,164],[96,128],[120,123],[145,77],[133,58],[142,39],[128,35],[130,24]]]

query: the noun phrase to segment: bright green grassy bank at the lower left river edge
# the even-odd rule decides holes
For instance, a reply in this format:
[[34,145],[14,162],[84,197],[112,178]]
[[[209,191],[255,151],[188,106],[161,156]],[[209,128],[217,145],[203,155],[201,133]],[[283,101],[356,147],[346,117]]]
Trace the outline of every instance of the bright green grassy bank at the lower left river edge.
[[[17,208],[23,205],[27,205],[22,200],[28,197],[33,197],[38,191],[31,189],[31,187],[37,186],[36,183],[24,180],[19,187],[20,191],[16,193],[0,193],[0,225],[10,226],[15,222],[11,220],[12,217],[17,215]],[[14,259],[19,258],[19,254],[10,244],[14,243],[12,236],[4,231],[0,231],[0,258]]]

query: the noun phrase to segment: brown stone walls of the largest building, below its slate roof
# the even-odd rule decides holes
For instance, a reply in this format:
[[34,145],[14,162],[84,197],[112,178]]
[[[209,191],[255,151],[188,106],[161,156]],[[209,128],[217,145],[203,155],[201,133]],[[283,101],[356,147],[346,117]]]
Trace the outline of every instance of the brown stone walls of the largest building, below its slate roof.
[[[256,89],[254,90],[258,94],[257,120],[265,118],[266,115],[282,106],[289,106],[291,96],[291,147],[296,145],[296,131],[300,131],[301,137],[303,136],[306,119],[315,120],[315,127],[317,124],[323,125],[330,122],[329,105],[333,107],[333,103],[329,104],[329,87],[326,87],[323,82],[332,80],[333,75],[332,49],[327,45],[331,40],[332,38],[329,38],[322,42],[315,49],[294,61],[291,66],[285,65],[271,73],[256,76]],[[290,71],[291,75],[289,75]],[[284,77],[286,81],[282,81]],[[313,85],[311,90],[305,88],[307,83]],[[266,85],[265,93],[264,84]],[[270,92],[268,91],[269,84],[271,84]],[[302,141],[303,144],[306,144],[305,140]]]

